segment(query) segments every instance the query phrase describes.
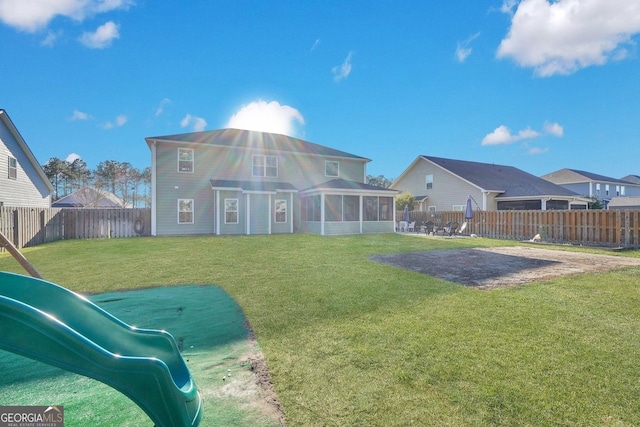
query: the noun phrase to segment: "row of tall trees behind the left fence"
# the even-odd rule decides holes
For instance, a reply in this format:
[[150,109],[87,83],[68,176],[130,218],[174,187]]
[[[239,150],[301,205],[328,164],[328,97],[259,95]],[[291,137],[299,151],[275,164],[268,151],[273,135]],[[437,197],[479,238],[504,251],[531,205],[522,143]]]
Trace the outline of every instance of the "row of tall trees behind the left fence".
[[42,169],[53,185],[53,201],[92,188],[99,194],[113,193],[121,199],[123,207],[151,206],[151,167],[140,170],[129,162],[106,160],[91,170],[82,159],[69,162],[52,157]]

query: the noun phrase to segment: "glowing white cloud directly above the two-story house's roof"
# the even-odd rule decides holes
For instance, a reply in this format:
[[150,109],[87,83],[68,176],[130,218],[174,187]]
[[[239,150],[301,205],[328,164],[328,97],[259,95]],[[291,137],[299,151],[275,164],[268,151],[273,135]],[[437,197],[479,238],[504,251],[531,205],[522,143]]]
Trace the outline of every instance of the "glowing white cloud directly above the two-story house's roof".
[[296,124],[304,125],[300,111],[277,101],[267,103],[259,99],[243,105],[225,127],[293,136]]

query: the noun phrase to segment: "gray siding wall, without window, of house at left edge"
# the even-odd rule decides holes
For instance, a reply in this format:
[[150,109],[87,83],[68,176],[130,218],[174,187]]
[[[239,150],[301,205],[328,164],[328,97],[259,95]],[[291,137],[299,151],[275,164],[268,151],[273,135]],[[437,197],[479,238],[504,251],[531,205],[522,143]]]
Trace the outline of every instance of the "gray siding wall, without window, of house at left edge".
[[[9,179],[9,157],[17,160],[17,179]],[[51,207],[47,184],[1,120],[0,202],[5,206]]]

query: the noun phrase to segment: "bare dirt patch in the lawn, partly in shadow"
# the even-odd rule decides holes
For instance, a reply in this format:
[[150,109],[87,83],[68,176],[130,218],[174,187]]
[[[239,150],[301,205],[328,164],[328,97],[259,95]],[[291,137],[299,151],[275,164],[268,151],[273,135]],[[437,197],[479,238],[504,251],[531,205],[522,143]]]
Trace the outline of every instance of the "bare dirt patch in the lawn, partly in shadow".
[[383,254],[371,259],[484,290],[640,266],[637,258],[522,246]]

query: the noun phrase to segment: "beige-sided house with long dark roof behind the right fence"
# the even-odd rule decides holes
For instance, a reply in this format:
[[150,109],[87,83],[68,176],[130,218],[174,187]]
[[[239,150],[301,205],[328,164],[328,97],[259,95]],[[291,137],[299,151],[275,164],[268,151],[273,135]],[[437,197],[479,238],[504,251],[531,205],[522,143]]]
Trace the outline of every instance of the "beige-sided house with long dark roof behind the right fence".
[[520,169],[418,156],[391,188],[411,193],[420,211],[586,209],[588,200]]

